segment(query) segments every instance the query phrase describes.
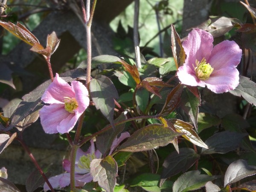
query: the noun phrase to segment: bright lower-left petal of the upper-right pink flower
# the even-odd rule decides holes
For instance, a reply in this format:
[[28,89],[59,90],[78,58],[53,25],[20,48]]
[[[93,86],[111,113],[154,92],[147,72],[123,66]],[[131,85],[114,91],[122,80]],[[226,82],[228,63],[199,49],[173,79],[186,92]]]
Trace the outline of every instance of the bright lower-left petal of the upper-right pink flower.
[[177,76],[182,84],[205,87],[204,82],[195,76],[195,70],[192,70],[186,64],[178,68]]

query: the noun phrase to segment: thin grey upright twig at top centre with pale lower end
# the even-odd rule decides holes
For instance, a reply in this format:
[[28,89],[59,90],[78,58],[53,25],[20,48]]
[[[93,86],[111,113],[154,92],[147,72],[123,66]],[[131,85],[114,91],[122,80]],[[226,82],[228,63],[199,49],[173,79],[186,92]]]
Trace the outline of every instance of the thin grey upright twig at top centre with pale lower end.
[[135,0],[134,5],[134,51],[137,68],[141,68],[140,62],[140,47],[139,47],[139,9],[140,0]]

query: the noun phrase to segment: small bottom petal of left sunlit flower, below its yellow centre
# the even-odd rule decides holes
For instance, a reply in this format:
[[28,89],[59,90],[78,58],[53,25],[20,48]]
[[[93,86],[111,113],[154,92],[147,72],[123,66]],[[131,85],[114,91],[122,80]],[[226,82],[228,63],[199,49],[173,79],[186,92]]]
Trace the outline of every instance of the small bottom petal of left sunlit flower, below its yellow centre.
[[[79,116],[81,116],[81,114]],[[57,131],[61,134],[68,133],[69,131],[71,131],[76,125],[76,122],[79,116],[76,115],[75,113],[69,113],[69,116],[67,116],[66,118],[63,118],[59,123],[59,125],[57,126]]]

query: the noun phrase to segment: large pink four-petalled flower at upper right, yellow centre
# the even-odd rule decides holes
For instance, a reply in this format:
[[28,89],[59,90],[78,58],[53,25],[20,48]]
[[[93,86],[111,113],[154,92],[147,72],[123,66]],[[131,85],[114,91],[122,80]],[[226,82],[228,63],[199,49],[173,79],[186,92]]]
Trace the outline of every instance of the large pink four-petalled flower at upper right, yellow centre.
[[213,37],[201,29],[193,29],[182,46],[186,53],[177,76],[182,84],[200,86],[214,93],[233,90],[239,84],[236,66],[241,61],[242,50],[235,41],[222,41],[213,47]]

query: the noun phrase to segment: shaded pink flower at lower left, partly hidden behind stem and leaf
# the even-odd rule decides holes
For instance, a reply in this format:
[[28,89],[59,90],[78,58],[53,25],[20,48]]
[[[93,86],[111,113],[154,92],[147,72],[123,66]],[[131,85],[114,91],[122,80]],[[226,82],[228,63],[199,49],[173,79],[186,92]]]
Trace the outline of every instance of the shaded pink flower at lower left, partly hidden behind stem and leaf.
[[[111,154],[114,149],[116,149],[122,140],[129,136],[130,134],[128,132],[124,132],[120,135],[119,138],[115,138],[111,145],[111,151],[109,154]],[[77,187],[82,187],[85,183],[91,182],[93,180],[93,177],[90,175],[90,162],[93,159],[99,159],[102,157],[102,154],[99,152],[99,150],[95,151],[93,139],[90,140],[90,143],[91,145],[86,152],[82,151],[80,148],[78,148],[76,152],[75,184]],[[49,182],[53,188],[58,189],[70,185],[70,165],[70,160],[64,159],[63,168],[66,172],[61,175],[56,175],[49,178]],[[44,191],[47,192],[48,190],[49,186],[47,183],[44,183]]]

